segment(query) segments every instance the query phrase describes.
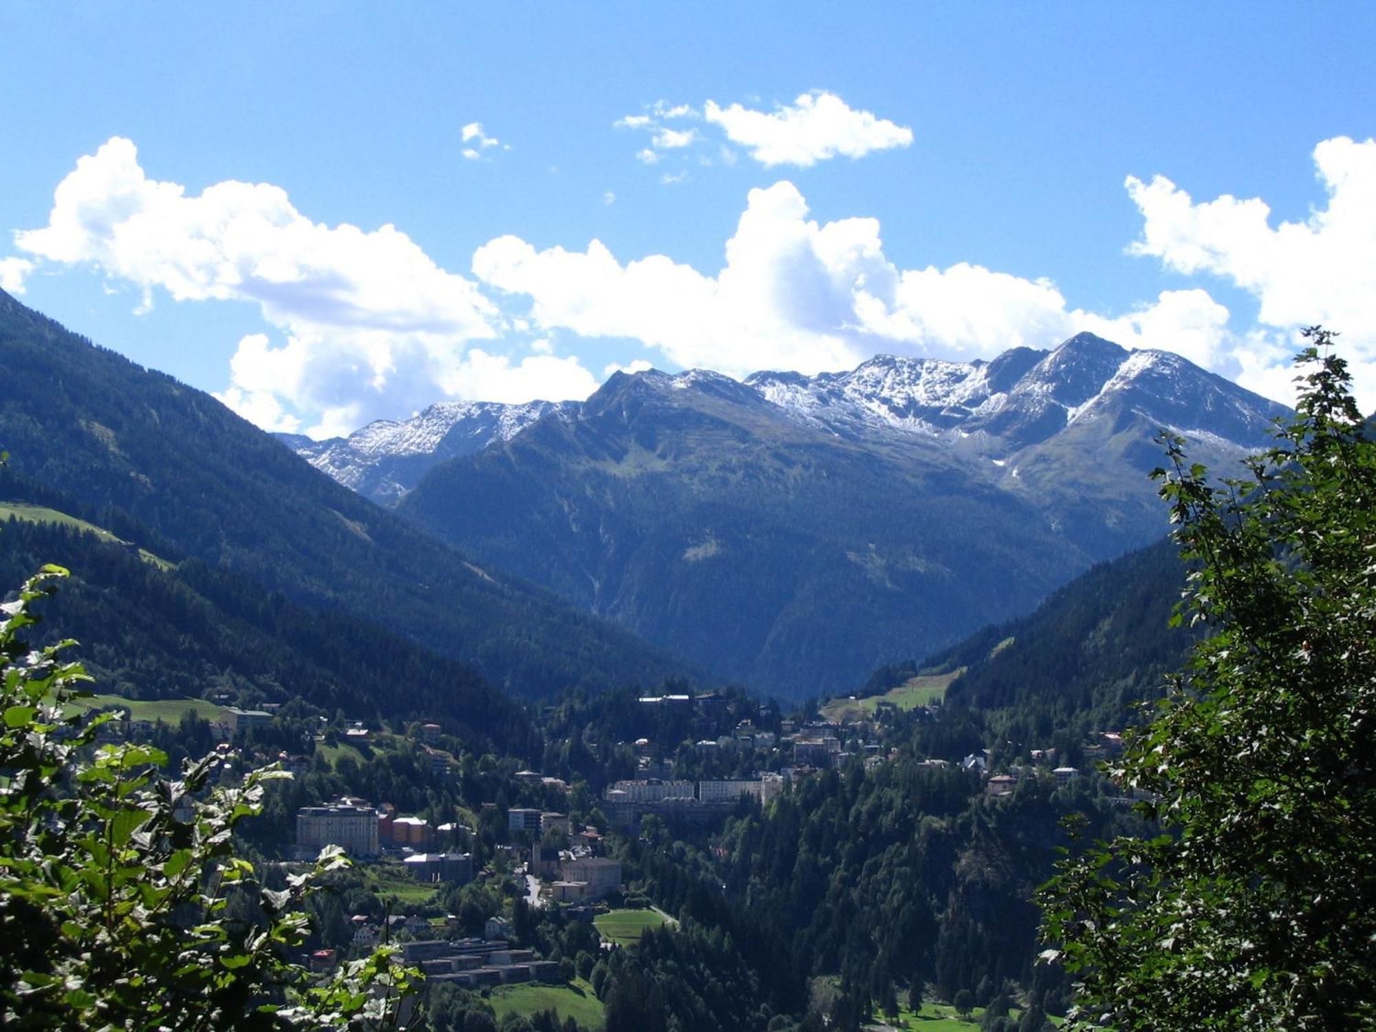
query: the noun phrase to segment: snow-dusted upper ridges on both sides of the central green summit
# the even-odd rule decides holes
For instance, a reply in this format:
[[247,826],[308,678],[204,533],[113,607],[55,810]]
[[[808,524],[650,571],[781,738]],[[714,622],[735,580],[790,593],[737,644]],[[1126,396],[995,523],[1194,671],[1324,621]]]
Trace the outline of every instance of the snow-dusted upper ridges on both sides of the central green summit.
[[[637,373],[663,389],[760,398],[791,418],[852,440],[926,436],[978,455],[1006,475],[1010,458],[1097,417],[1131,416],[1193,438],[1252,447],[1287,411],[1168,351],[1128,351],[1090,333],[1042,351],[1018,347],[991,361],[875,355],[842,373],[760,372],[735,381],[694,369]],[[709,388],[709,385],[711,385]],[[395,506],[433,466],[510,440],[546,416],[578,418],[585,403],[438,402],[405,421],[378,420],[347,438],[277,435],[311,465],[380,505]]]

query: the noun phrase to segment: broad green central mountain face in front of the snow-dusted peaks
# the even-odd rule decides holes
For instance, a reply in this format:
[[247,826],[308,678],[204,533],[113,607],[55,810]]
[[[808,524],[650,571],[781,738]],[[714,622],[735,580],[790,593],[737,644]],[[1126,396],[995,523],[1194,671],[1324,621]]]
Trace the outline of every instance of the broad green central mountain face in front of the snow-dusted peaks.
[[1088,563],[941,449],[838,439],[710,373],[612,377],[577,418],[438,466],[399,512],[794,698],[1026,610]]

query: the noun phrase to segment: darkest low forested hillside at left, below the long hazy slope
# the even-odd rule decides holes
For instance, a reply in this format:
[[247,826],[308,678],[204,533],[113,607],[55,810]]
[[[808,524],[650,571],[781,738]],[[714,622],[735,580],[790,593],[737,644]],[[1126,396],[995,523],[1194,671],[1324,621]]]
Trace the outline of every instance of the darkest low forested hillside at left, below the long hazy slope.
[[530,749],[530,721],[509,696],[472,667],[377,625],[312,612],[197,559],[164,568],[89,533],[0,520],[0,583],[21,583],[43,563],[73,575],[39,607],[40,644],[81,643],[100,692],[227,692],[242,706],[301,699],[351,720],[442,720],[479,750]]

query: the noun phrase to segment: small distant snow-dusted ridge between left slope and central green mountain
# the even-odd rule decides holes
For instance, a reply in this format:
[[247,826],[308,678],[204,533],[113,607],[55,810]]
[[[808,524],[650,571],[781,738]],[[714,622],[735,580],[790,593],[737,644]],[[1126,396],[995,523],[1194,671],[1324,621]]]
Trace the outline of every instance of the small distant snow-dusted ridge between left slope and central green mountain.
[[436,464],[510,440],[535,420],[568,407],[557,402],[438,402],[410,420],[377,420],[347,438],[277,438],[345,487],[391,506]]

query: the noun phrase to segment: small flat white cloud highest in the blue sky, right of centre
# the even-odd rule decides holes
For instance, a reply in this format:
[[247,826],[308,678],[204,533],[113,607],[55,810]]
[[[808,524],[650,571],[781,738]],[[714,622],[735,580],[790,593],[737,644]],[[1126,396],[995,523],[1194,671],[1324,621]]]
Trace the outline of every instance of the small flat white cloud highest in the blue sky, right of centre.
[[816,89],[773,111],[755,111],[739,103],[721,107],[707,100],[703,114],[765,166],[808,166],[838,154],[860,158],[912,143],[912,129],[857,111],[835,94]]

